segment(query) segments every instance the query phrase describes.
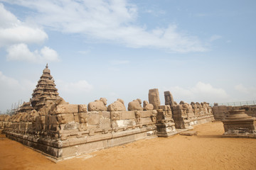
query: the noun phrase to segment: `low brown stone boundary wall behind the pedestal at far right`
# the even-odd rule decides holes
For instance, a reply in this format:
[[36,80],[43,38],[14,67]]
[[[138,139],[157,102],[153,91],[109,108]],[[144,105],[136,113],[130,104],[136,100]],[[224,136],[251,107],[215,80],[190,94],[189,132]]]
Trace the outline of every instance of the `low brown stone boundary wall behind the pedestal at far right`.
[[256,106],[213,106],[215,120],[225,120],[229,111],[245,109],[245,114],[256,118]]

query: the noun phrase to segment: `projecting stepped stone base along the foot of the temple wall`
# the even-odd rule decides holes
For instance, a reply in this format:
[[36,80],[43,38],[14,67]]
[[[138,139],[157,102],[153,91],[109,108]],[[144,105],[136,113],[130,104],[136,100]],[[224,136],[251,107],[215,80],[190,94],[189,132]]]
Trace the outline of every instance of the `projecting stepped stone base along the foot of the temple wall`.
[[149,139],[156,136],[156,129],[135,128],[122,132],[109,132],[107,134],[70,138],[69,140],[50,140],[46,137],[33,137],[21,135],[16,132],[7,132],[6,137],[21,142],[23,145],[44,152],[56,160],[76,157],[99,149],[124,145],[136,140]]

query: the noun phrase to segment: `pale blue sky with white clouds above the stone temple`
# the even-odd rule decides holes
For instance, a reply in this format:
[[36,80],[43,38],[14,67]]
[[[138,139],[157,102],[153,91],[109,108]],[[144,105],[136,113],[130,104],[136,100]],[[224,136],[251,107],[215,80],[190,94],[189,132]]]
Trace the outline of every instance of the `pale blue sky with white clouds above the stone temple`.
[[70,103],[256,100],[256,1],[0,0],[0,111],[49,65]]

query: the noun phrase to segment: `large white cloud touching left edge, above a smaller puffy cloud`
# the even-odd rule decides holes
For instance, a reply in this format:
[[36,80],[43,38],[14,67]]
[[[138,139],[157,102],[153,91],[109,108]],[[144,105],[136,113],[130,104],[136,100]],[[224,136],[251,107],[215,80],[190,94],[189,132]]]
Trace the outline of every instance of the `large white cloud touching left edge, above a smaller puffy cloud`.
[[0,4],[0,47],[14,43],[40,43],[48,39],[41,29],[19,21],[13,13]]

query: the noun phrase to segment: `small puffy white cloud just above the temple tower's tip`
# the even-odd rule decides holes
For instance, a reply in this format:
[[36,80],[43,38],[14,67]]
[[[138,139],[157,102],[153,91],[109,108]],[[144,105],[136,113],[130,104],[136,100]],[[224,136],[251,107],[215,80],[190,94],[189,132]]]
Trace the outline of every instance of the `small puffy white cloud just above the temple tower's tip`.
[[7,47],[7,60],[9,61],[27,61],[27,62],[56,62],[58,61],[58,53],[49,47],[43,47],[40,51],[31,52],[26,44],[16,44]]

